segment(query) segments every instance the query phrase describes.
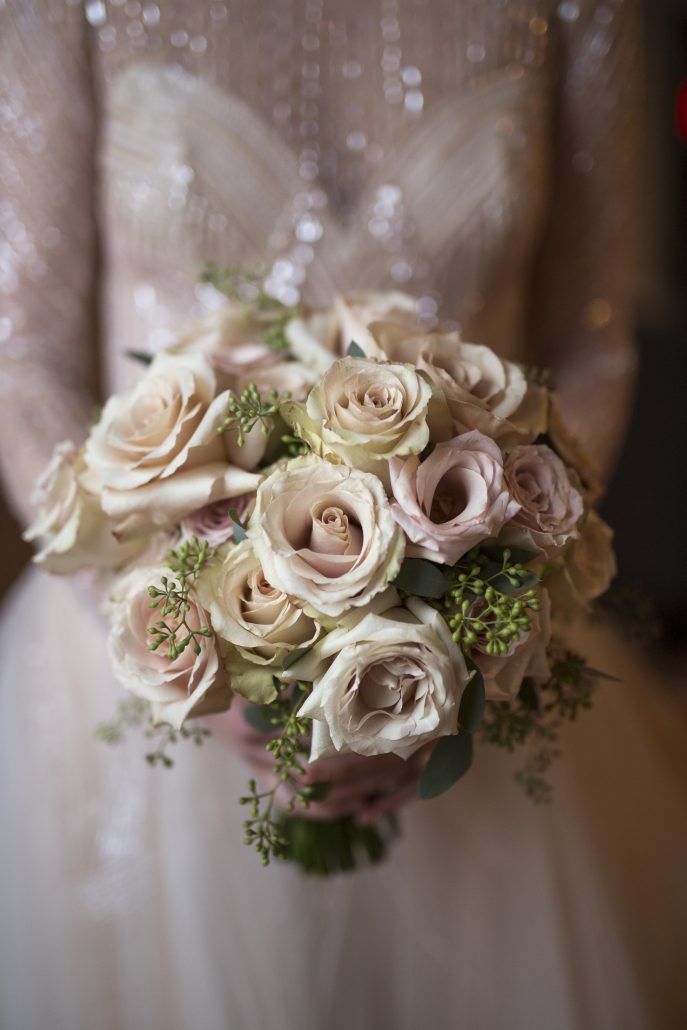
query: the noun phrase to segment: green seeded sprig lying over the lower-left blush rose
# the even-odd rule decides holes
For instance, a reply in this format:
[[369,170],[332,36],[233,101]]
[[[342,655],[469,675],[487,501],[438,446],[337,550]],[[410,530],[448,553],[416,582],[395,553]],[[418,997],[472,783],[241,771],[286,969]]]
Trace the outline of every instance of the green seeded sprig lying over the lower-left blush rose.
[[190,591],[204,566],[216,555],[207,541],[198,537],[184,540],[175,550],[169,551],[167,564],[176,575],[163,576],[161,586],[150,585],[148,593],[152,597],[150,608],[159,608],[162,619],[148,629],[152,641],[150,651],[157,651],[165,644],[167,657],[174,660],[191,647],[195,654],[201,653],[201,640],[211,637],[209,626],[193,626],[186,616],[191,611]]

